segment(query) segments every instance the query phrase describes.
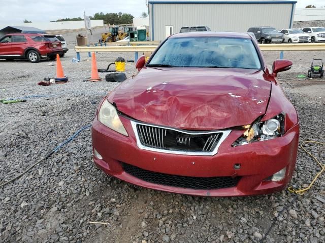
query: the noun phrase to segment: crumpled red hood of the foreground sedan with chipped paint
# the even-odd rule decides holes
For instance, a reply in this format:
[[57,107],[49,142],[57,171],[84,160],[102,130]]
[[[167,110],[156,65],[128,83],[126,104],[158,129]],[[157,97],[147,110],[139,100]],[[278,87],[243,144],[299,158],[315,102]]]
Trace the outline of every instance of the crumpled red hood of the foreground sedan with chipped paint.
[[119,111],[150,124],[217,130],[251,124],[266,112],[271,82],[263,71],[144,68],[108,97]]

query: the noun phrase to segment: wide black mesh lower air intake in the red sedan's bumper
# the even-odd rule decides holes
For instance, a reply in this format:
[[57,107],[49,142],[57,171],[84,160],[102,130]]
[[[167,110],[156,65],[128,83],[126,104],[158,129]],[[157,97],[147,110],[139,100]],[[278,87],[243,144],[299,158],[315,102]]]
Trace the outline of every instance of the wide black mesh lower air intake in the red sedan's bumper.
[[213,190],[220,188],[234,187],[237,185],[241,177],[232,178],[224,177],[190,177],[169,175],[158,172],[143,170],[139,167],[122,164],[126,173],[146,182],[197,190]]

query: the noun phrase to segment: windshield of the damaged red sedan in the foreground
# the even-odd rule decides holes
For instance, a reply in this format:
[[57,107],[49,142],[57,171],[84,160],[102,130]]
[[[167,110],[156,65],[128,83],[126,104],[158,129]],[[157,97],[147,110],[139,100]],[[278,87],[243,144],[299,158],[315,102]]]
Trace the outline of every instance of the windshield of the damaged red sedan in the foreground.
[[169,38],[148,67],[223,67],[261,69],[256,49],[248,38]]

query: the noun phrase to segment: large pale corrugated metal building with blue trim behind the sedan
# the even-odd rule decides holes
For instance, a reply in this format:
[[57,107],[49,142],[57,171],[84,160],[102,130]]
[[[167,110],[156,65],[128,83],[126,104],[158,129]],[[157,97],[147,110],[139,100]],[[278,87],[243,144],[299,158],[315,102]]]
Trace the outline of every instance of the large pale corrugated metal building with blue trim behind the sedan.
[[182,26],[246,32],[249,27],[291,28],[297,1],[149,0],[150,40],[161,41]]

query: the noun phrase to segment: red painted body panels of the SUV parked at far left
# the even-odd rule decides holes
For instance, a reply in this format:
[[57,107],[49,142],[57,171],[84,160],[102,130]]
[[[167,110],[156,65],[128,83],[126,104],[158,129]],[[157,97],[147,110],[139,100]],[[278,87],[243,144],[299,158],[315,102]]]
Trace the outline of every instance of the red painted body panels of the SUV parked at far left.
[[26,54],[31,50],[37,51],[39,55],[43,58],[54,57],[56,54],[63,53],[63,49],[61,47],[60,42],[36,42],[31,38],[31,36],[43,37],[43,34],[12,33],[6,34],[5,36],[3,36],[3,38],[5,38],[6,36],[23,36],[25,41],[0,43],[0,58],[26,58]]

